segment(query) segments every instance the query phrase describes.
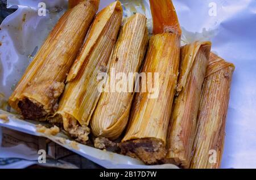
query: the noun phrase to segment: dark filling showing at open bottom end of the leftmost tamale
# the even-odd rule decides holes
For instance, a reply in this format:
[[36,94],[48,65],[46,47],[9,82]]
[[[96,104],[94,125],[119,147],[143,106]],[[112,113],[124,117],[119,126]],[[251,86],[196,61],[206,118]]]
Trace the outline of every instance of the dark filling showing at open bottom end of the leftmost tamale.
[[19,101],[18,106],[25,119],[42,118],[47,114],[42,105],[36,105],[34,102],[28,100],[28,98]]

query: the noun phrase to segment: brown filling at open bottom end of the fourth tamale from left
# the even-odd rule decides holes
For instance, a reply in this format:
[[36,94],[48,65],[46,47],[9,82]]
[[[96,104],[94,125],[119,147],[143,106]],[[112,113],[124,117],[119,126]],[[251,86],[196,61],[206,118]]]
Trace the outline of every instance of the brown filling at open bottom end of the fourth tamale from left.
[[119,144],[121,153],[139,158],[146,164],[156,164],[166,156],[164,144],[155,139],[135,139]]

